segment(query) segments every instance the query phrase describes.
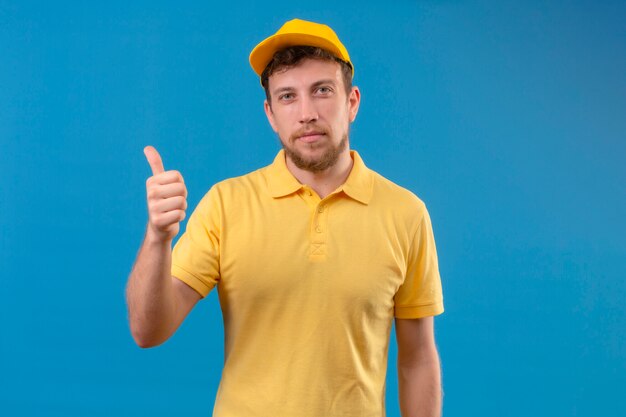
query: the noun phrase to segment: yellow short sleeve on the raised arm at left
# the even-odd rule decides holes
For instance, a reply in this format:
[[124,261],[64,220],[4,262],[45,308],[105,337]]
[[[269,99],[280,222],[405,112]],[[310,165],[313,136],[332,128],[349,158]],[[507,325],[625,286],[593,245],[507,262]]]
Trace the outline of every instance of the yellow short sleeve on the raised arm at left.
[[185,233],[172,251],[172,275],[202,297],[219,281],[220,219],[219,195],[213,187],[189,217]]

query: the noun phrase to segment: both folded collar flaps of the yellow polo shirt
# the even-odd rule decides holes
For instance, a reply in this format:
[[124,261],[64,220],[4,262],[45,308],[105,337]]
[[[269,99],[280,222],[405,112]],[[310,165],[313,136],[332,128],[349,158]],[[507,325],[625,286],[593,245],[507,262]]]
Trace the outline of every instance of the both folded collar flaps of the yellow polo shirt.
[[[363,159],[357,151],[351,150],[353,164],[352,170],[346,182],[339,187],[349,197],[368,204],[372,198],[373,178],[372,172],[365,166]],[[285,151],[281,149],[274,162],[268,167],[267,184],[272,197],[279,198],[295,193],[302,184],[293,176],[285,162]]]

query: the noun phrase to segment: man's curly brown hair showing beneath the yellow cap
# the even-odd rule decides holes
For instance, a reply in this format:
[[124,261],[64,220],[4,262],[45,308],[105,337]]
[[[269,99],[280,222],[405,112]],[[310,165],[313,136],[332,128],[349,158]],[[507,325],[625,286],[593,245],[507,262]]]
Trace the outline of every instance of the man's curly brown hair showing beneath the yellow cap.
[[285,49],[277,51],[261,74],[261,85],[263,85],[263,88],[265,89],[265,97],[267,97],[267,102],[270,104],[270,107],[272,105],[269,90],[270,76],[280,70],[293,68],[302,60],[307,58],[338,62],[341,66],[343,85],[346,89],[346,95],[350,95],[350,91],[352,91],[352,66],[349,63],[337,58],[326,49],[318,48],[316,46],[289,46]]

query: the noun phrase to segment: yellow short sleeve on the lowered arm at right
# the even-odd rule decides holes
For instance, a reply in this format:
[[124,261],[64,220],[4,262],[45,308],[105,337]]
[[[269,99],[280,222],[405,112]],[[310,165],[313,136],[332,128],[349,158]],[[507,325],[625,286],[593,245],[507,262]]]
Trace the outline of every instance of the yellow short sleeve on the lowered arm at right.
[[424,207],[408,251],[403,284],[394,296],[394,316],[413,319],[443,313],[437,249],[428,211]]

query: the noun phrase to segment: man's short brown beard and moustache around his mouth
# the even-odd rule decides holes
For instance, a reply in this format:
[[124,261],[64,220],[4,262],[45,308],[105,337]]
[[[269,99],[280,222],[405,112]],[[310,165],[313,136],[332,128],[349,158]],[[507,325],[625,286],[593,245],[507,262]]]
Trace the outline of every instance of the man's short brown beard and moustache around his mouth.
[[[328,136],[328,132],[321,129],[316,129]],[[289,143],[293,144],[300,136],[301,133],[295,133],[289,138]],[[346,149],[348,145],[348,133],[344,133],[341,140],[337,145],[334,145],[332,140],[326,140],[322,143],[309,143],[305,144],[309,149],[325,148],[323,153],[319,157],[306,157],[295,146],[288,146],[280,141],[285,155],[291,159],[295,166],[298,168],[313,173],[322,172],[337,163],[339,156]]]

